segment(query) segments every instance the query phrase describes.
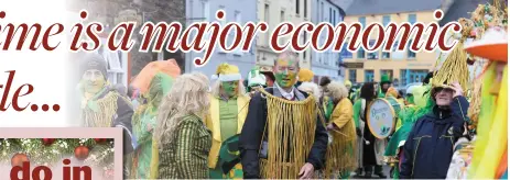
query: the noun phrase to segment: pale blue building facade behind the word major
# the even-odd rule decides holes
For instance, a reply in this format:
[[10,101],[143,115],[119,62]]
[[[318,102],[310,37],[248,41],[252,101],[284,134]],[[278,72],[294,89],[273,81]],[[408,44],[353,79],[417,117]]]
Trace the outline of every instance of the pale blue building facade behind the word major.
[[[216,11],[219,9],[226,12],[226,20],[223,23],[238,21],[240,24],[245,24],[248,21],[257,21],[257,1],[254,0],[186,0],[186,16],[193,20],[188,21],[188,24],[198,21],[217,21]],[[240,18],[238,18],[238,15],[240,15]],[[228,44],[230,44],[234,40],[234,32],[230,33],[227,38]],[[216,52],[213,52],[210,60],[203,67],[195,67],[193,59],[195,57],[203,57],[204,53],[187,53],[186,72],[200,71],[210,77],[216,72],[216,68],[219,64],[228,63],[238,66],[242,77],[246,78],[250,69],[254,66],[254,45],[252,45],[251,50],[247,53],[224,53],[218,47],[216,47],[215,50]]]

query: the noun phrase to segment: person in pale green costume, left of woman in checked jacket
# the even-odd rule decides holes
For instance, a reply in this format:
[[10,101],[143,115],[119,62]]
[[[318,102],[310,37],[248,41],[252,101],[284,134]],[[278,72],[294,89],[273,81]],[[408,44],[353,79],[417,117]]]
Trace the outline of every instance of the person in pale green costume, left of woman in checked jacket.
[[137,179],[149,179],[156,176],[151,175],[151,172],[155,173],[153,168],[156,168],[151,166],[158,165],[158,156],[153,151],[152,132],[156,123],[158,108],[161,100],[170,92],[172,82],[172,77],[158,72],[151,80],[149,91],[143,94],[148,103],[141,105],[133,116],[133,131],[139,145],[134,158],[137,167],[134,178]]

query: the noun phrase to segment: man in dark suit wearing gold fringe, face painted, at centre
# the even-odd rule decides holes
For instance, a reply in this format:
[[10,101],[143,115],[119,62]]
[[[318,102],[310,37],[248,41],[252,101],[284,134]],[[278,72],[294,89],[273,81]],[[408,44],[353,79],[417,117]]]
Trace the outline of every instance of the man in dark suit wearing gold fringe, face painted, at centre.
[[240,135],[243,177],[312,178],[324,165],[328,139],[325,123],[315,97],[294,88],[300,71],[297,55],[280,54],[273,70],[276,83],[253,95]]

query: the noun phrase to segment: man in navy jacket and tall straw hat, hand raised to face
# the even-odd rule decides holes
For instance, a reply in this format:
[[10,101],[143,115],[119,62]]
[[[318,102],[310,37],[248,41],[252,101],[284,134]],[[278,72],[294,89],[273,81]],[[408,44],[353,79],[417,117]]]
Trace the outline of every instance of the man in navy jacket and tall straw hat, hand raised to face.
[[[467,87],[465,79],[467,77],[452,76],[467,74],[463,71],[467,70],[466,58],[457,58],[466,56],[458,55],[464,54],[458,47],[455,49],[431,79],[430,97],[433,100],[433,108],[417,119],[409,133],[400,159],[399,178],[446,178],[454,154],[453,146],[465,132],[469,108],[463,88]],[[452,69],[456,70],[452,71]],[[426,111],[427,108],[424,110]]]

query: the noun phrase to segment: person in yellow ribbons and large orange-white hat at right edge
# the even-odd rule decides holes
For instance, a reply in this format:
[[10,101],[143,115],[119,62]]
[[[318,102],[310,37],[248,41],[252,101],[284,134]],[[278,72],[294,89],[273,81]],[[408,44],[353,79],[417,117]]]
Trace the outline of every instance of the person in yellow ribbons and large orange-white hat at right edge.
[[489,59],[481,87],[481,110],[468,178],[507,179],[508,161],[508,35],[503,27],[486,31],[465,46],[467,53]]

